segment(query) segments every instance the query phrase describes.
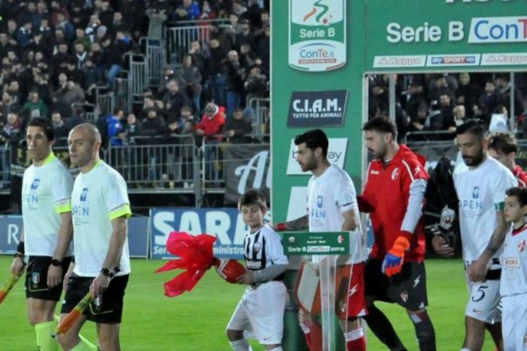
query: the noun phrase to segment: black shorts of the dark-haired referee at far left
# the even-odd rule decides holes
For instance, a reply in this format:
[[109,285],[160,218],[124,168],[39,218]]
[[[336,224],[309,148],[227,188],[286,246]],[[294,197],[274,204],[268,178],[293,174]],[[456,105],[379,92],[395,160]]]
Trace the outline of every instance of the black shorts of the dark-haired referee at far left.
[[[62,284],[49,288],[47,286],[47,269],[51,265],[49,256],[30,256],[25,274],[25,297],[38,300],[60,300],[62,294]],[[62,259],[62,279],[66,275],[71,263],[71,257]]]

